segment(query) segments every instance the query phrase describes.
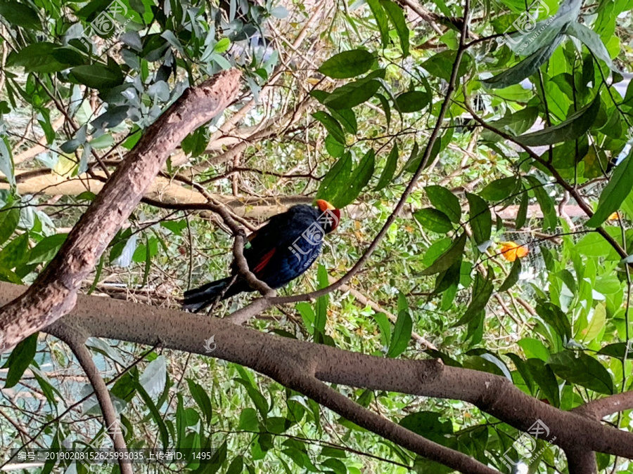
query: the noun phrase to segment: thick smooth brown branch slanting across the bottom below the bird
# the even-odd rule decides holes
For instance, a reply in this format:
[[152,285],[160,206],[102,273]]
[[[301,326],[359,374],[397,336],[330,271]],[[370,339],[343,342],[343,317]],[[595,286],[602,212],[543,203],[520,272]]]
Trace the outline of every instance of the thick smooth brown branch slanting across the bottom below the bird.
[[[23,287],[0,283],[0,301],[7,301],[22,291]],[[257,301],[264,301],[264,298],[254,304]],[[205,354],[205,339],[215,335],[217,349],[212,353],[213,357],[250,367],[281,383],[280,378],[288,376],[284,375],[285,371],[293,369],[314,374],[323,382],[463,400],[520,430],[528,430],[537,419],[541,419],[550,428],[550,436],[556,436],[554,444],[563,448],[605,452],[633,459],[631,433],[603,426],[599,421],[575,412],[551,407],[526,395],[507,378],[448,367],[436,360],[373,357],[262,334],[216,318],[97,296],[79,295],[77,308],[60,322],[46,328],[46,332],[63,337],[65,326],[80,328],[84,334],[91,336],[147,345],[160,344],[165,348],[198,354]],[[325,406],[331,407],[328,403]],[[359,426],[369,423],[367,420],[352,421]],[[389,433],[378,434],[392,439]]]

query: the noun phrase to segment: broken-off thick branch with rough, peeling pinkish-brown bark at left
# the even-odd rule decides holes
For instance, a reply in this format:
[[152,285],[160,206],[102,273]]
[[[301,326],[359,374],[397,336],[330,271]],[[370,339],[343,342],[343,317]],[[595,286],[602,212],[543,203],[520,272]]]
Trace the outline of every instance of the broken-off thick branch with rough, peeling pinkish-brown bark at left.
[[7,348],[51,324],[75,305],[77,289],[162,165],[188,133],[222,112],[238,93],[240,72],[224,71],[188,88],[143,134],[57,256],[32,286],[0,308],[0,334]]

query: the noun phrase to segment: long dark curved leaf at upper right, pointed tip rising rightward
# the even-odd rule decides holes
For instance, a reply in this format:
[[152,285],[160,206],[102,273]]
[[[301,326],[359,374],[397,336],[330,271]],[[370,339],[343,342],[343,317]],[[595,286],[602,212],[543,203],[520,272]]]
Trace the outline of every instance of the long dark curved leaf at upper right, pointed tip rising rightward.
[[516,137],[516,141],[521,145],[528,147],[537,147],[541,145],[554,145],[555,143],[569,142],[587,133],[592,126],[598,111],[600,110],[600,96],[571,114],[561,124],[548,127],[532,133],[526,133]]

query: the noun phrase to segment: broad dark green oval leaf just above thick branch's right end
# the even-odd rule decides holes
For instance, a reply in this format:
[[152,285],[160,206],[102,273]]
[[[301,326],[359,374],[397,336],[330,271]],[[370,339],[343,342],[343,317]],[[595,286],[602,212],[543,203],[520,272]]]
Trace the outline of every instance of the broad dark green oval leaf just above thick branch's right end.
[[613,379],[594,357],[570,350],[552,354],[549,367],[561,378],[598,393],[613,394]]

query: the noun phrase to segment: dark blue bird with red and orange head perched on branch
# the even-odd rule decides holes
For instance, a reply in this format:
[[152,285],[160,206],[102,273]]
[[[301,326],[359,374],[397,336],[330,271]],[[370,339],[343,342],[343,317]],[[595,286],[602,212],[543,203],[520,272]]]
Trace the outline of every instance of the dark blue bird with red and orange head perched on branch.
[[[243,255],[249,270],[273,289],[285,286],[312,265],[321,253],[324,236],[339,221],[340,209],[324,199],[316,199],[316,206],[298,204],[272,216],[247,237]],[[237,275],[235,263],[231,268],[230,277],[185,291],[182,309],[200,312],[217,301],[255,291]]]

